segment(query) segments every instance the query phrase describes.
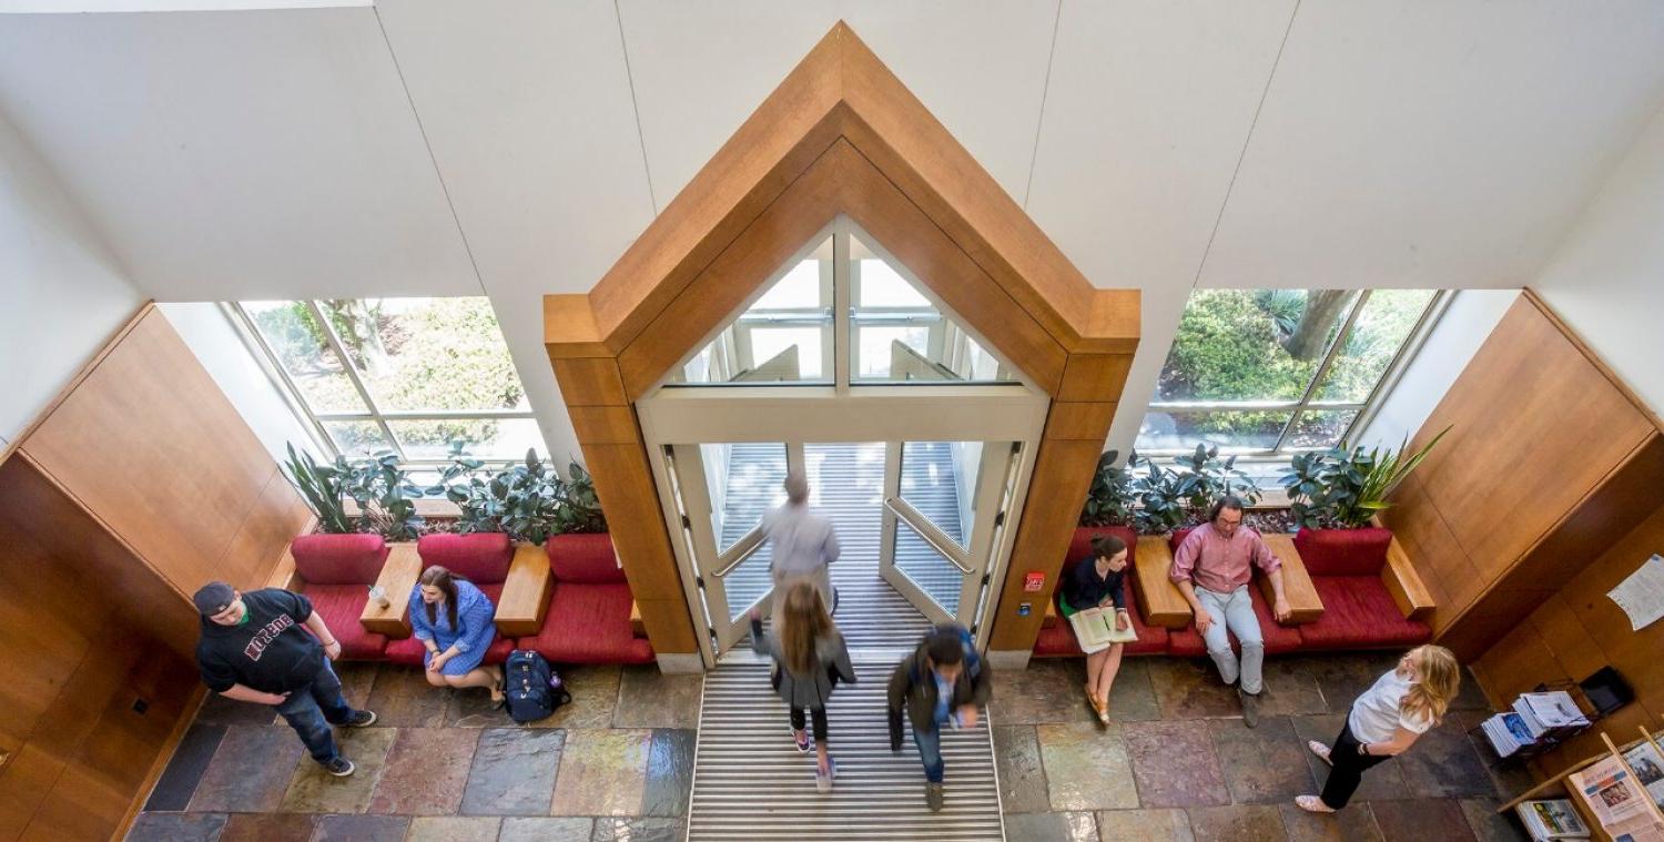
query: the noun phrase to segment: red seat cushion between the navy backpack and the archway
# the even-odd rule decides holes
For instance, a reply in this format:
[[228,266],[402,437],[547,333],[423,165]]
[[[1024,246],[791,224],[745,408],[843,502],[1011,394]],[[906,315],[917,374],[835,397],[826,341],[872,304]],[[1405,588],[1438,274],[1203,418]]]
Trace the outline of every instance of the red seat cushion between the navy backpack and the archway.
[[521,637],[556,664],[651,664],[652,646],[629,627],[627,584],[556,582],[542,629]]

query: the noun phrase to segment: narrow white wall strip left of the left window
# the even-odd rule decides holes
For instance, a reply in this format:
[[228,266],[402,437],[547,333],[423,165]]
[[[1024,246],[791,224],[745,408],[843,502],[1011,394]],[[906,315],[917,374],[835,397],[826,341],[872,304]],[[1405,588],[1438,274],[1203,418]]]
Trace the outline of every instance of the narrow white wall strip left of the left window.
[[255,431],[273,459],[283,461],[291,441],[296,449],[323,456],[271,378],[255,363],[255,356],[248,353],[248,346],[243,344],[220,305],[156,305],[156,308],[196,354],[196,361],[208,369],[208,376],[220,386],[220,391],[231,401],[236,413],[243,416],[243,423]]

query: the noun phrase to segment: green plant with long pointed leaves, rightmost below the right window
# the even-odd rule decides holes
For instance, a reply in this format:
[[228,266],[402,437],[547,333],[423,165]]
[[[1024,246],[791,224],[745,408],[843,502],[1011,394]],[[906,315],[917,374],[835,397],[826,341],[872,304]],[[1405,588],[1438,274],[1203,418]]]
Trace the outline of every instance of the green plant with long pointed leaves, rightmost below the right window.
[[1391,508],[1386,498],[1409,476],[1428,453],[1449,433],[1433,436],[1419,451],[1404,454],[1406,436],[1396,451],[1371,448],[1331,448],[1323,453],[1298,454],[1283,474],[1290,509],[1306,529],[1359,529]]

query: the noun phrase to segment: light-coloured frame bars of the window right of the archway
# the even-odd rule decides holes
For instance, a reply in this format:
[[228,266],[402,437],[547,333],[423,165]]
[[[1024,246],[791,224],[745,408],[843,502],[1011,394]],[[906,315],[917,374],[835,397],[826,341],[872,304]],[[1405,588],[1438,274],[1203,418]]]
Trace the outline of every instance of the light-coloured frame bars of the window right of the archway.
[[[1391,394],[1393,388],[1398,384],[1399,378],[1403,376],[1404,368],[1409,366],[1409,361],[1414,359],[1418,353],[1421,353],[1421,348],[1426,343],[1428,334],[1433,333],[1433,326],[1438,324],[1439,318],[1444,315],[1444,310],[1449,306],[1449,300],[1451,300],[1451,290],[1434,290],[1433,291],[1433,298],[1428,300],[1428,306],[1423,308],[1421,315],[1416,318],[1414,326],[1411,326],[1409,333],[1404,336],[1404,341],[1393,353],[1393,358],[1388,361],[1386,369],[1381,371],[1381,378],[1374,383],[1374,386],[1369,389],[1369,394],[1366,394],[1364,399],[1361,399],[1361,401],[1321,401],[1321,399],[1315,399],[1316,393],[1318,393],[1318,388],[1323,384],[1323,378],[1328,376],[1330,368],[1335,364],[1335,359],[1340,358],[1340,354],[1345,351],[1345,348],[1346,348],[1346,338],[1351,334],[1353,326],[1358,323],[1358,316],[1363,313],[1364,305],[1369,303],[1369,296],[1374,291],[1376,290],[1361,290],[1359,291],[1358,300],[1348,310],[1346,318],[1341,321],[1340,329],[1335,331],[1335,339],[1330,341],[1328,349],[1325,349],[1325,353],[1323,353],[1321,363],[1318,363],[1318,368],[1313,369],[1311,379],[1306,383],[1306,388],[1300,394],[1300,398],[1296,398],[1293,401],[1155,401],[1155,399],[1151,399],[1145,406],[1145,418],[1148,418],[1151,413],[1165,413],[1165,411],[1185,411],[1185,413],[1286,411],[1286,413],[1290,413],[1288,421],[1283,423],[1283,429],[1276,436],[1276,444],[1273,444],[1271,448],[1226,448],[1225,444],[1211,443],[1211,441],[1208,441],[1205,438],[1198,438],[1196,439],[1196,444],[1218,444],[1221,453],[1225,453],[1228,449],[1230,454],[1236,456],[1240,461],[1278,463],[1278,461],[1286,461],[1288,458],[1295,456],[1296,453],[1315,453],[1315,451],[1326,451],[1326,449],[1330,449],[1333,446],[1348,446],[1350,441],[1351,441],[1351,438],[1353,438],[1353,434],[1358,433],[1359,429],[1366,428],[1374,419],[1374,416],[1379,414],[1381,403],[1386,399],[1388,394]],[[1186,308],[1190,306],[1188,300],[1186,300],[1185,306]],[[1168,346],[1168,354],[1171,354],[1171,346]],[[1163,366],[1166,364],[1166,358],[1163,358],[1161,364]],[[1293,434],[1295,428],[1300,424],[1301,416],[1305,416],[1306,413],[1325,413],[1325,411],[1340,411],[1340,413],[1354,411],[1356,414],[1353,416],[1351,423],[1346,424],[1346,429],[1341,431],[1340,441],[1336,441],[1335,444],[1325,444],[1325,446],[1291,446],[1290,444],[1290,436]],[[1142,426],[1143,426],[1143,421],[1140,419],[1140,428]],[[1170,459],[1173,456],[1185,456],[1185,454],[1193,453],[1195,451],[1195,444],[1191,444],[1188,448],[1160,448],[1160,449],[1137,448],[1137,449],[1138,449],[1140,456],[1153,456],[1156,459]]]

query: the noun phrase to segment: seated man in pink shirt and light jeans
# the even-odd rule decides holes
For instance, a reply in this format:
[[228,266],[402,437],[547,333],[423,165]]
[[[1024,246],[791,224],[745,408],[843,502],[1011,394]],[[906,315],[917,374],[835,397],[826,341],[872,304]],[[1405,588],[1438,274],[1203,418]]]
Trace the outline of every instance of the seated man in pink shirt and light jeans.
[[[1243,527],[1243,501],[1226,496],[1213,504],[1206,526],[1191,529],[1185,536],[1168,572],[1190,602],[1196,632],[1208,644],[1208,656],[1220,667],[1220,677],[1225,684],[1236,684],[1236,696],[1243,704],[1243,724],[1248,727],[1260,724],[1260,691],[1265,687],[1261,677],[1265,637],[1260,634],[1260,619],[1248,594],[1253,567],[1260,567],[1271,579],[1271,591],[1276,594],[1271,612],[1278,622],[1286,621],[1283,562],[1265,546],[1260,532]],[[1243,647],[1240,664],[1231,652],[1226,631],[1235,634]]]

